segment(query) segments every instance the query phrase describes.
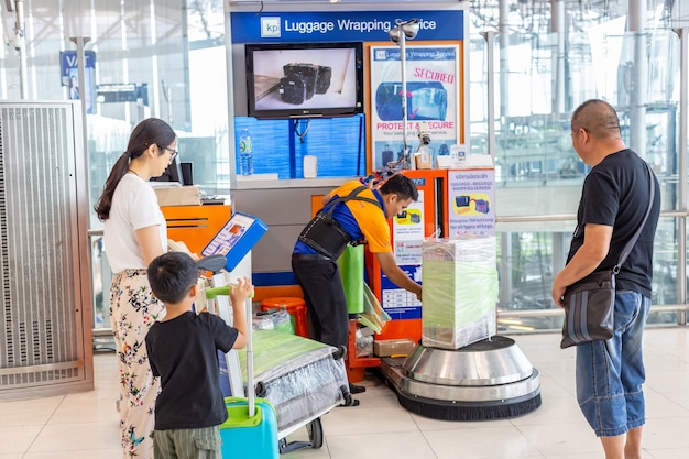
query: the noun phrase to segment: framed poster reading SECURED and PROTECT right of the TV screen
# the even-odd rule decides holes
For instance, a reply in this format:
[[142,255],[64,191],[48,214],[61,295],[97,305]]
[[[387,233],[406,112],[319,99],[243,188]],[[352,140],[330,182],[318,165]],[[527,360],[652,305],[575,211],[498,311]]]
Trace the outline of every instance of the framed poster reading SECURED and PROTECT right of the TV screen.
[[[407,150],[419,146],[419,124],[430,134],[428,153],[449,155],[459,140],[459,46],[406,44]],[[402,63],[398,46],[371,46],[371,165],[383,168],[403,153]]]

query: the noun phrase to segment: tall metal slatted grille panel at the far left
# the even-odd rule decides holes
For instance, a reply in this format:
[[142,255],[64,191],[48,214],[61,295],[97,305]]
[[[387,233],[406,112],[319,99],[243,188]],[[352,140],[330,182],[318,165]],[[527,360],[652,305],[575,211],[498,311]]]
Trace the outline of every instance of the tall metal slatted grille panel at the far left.
[[86,373],[75,107],[0,103],[0,392]]

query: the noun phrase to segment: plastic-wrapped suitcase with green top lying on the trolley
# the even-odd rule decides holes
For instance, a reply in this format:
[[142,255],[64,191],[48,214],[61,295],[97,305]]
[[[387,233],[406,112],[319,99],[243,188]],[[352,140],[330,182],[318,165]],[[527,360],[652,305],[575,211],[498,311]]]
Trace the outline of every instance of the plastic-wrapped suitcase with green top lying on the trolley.
[[[343,349],[272,330],[253,332],[256,394],[277,412],[283,438],[351,398]],[[240,352],[240,360],[245,353]],[[242,371],[245,365],[241,365]],[[245,373],[242,374],[247,381]]]

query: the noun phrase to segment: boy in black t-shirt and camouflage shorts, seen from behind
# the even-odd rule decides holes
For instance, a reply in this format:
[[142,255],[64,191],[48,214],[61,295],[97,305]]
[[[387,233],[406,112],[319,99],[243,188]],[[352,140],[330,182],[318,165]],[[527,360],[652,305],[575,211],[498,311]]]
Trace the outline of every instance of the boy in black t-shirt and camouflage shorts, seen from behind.
[[234,327],[220,317],[192,310],[198,269],[183,252],[164,253],[147,270],[153,294],[165,303],[165,318],[146,335],[149,362],[161,378],[155,401],[153,452],[156,459],[220,459],[219,425],[227,419],[217,350],[247,345],[244,303],[253,292],[248,278],[230,288]]

